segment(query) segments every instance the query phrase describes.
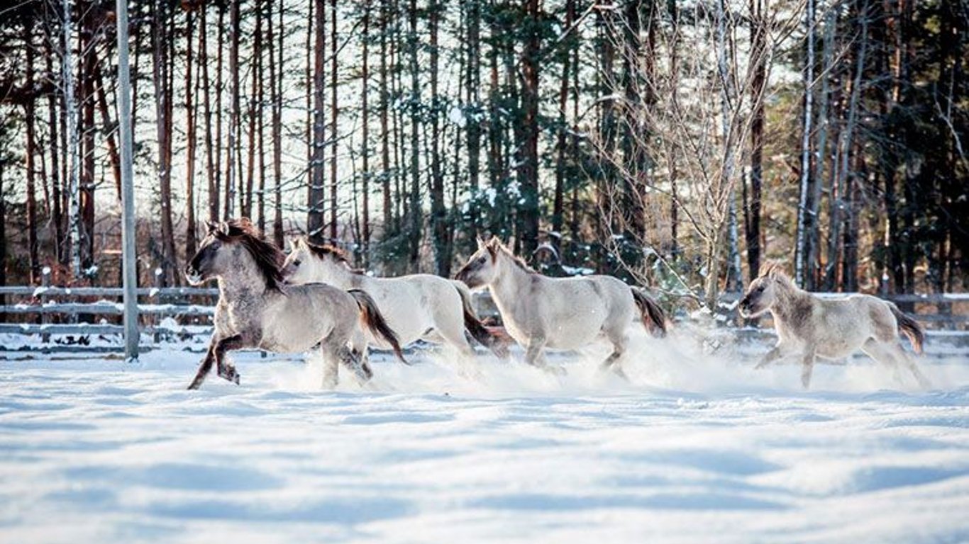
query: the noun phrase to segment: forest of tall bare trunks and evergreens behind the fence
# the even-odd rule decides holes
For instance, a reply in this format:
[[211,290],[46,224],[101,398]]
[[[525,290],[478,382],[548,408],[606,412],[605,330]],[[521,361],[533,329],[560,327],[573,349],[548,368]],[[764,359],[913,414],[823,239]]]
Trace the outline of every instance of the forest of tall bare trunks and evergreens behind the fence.
[[[118,283],[114,0],[0,7],[0,283]],[[710,304],[966,287],[965,0],[131,0],[141,280],[247,216]]]

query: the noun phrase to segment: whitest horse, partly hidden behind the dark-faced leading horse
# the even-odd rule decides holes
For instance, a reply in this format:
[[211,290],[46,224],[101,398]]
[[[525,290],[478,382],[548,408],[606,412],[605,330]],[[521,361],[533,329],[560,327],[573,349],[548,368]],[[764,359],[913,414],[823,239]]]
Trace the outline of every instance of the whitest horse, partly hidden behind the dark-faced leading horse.
[[[447,344],[465,357],[474,349],[465,330],[501,358],[508,348],[491,334],[471,308],[471,293],[461,284],[429,274],[398,278],[372,278],[351,268],[341,250],[312,244],[305,238],[290,241],[291,252],[283,265],[283,277],[293,284],[323,282],[340,288],[359,288],[373,297],[402,346],[418,340]],[[371,338],[386,348],[379,337]]]

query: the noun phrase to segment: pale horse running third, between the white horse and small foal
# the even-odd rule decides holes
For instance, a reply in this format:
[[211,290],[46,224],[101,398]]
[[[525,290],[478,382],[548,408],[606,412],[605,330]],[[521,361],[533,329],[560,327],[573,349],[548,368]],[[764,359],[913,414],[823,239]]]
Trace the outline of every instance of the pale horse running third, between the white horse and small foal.
[[582,348],[605,336],[612,353],[602,363],[620,377],[620,358],[629,344],[626,330],[640,309],[642,324],[653,336],[666,335],[663,310],[641,290],[611,276],[549,278],[515,257],[497,238],[478,240],[478,251],[458,271],[468,287],[491,290],[509,335],[525,348],[525,360],[547,365],[545,348]]

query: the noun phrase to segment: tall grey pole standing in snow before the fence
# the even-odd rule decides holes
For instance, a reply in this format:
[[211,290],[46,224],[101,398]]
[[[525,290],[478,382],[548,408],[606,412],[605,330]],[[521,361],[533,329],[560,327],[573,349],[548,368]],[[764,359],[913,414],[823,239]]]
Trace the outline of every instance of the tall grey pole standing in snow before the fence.
[[124,278],[124,354],[138,359],[138,256],[135,254],[135,187],[132,171],[131,74],[128,69],[128,0],[117,2],[118,139],[121,142],[121,253]]

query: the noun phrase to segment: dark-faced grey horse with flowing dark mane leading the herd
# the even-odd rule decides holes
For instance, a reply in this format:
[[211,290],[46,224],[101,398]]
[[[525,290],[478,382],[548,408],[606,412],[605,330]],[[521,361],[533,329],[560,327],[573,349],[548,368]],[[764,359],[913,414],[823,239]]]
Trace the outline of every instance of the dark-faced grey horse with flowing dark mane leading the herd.
[[185,267],[193,286],[219,283],[215,331],[189,389],[198,389],[214,362],[219,376],[235,383],[239,375],[226,351],[261,348],[282,353],[320,346],[326,359],[324,386],[336,385],[339,363],[360,381],[373,373],[350,346],[363,338],[360,325],[378,335],[407,363],[387,321],[365,292],[325,285],[285,286],[283,253],[262,238],[248,219],[209,224],[199,252]]

